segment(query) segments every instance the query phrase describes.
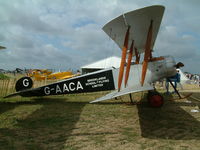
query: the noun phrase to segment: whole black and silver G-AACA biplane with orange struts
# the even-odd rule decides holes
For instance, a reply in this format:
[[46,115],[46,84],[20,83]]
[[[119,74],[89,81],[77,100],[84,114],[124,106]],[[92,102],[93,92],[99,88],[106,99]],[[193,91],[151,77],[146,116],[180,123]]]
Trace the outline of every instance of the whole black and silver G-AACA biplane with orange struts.
[[[161,107],[163,97],[156,92],[153,83],[174,76],[176,68],[183,66],[182,63],[176,64],[172,56],[153,57],[153,46],[164,10],[164,6],[159,5],[134,10],[120,15],[103,27],[103,31],[122,50],[120,68],[100,70],[33,89],[31,79],[24,77],[16,83],[17,92],[6,98],[111,90],[109,94],[91,102],[95,103],[125,94],[149,91],[150,105]],[[141,54],[144,55],[142,60]]]

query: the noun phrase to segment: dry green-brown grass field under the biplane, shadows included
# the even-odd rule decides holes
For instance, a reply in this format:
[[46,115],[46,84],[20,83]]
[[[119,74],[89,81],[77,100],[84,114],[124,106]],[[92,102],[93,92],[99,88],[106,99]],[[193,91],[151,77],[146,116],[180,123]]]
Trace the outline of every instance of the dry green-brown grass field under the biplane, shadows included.
[[104,94],[1,99],[0,149],[199,149],[200,113],[191,109],[200,107],[200,93],[191,103],[164,95],[159,109],[145,93],[133,94],[138,105],[126,104],[128,96],[88,103]]

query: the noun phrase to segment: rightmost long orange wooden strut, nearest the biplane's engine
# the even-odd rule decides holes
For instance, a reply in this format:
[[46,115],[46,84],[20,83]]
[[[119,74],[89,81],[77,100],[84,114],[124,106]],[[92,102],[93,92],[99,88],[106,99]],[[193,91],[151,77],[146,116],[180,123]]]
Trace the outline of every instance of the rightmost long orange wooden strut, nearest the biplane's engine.
[[147,39],[146,39],[146,44],[145,44],[145,53],[144,53],[144,61],[142,64],[142,77],[141,77],[141,85],[143,86],[146,72],[147,72],[147,67],[148,67],[148,61],[149,58],[152,56],[151,55],[151,42],[152,42],[152,30],[153,30],[153,20],[151,20],[150,26],[149,26],[149,31],[147,34]]

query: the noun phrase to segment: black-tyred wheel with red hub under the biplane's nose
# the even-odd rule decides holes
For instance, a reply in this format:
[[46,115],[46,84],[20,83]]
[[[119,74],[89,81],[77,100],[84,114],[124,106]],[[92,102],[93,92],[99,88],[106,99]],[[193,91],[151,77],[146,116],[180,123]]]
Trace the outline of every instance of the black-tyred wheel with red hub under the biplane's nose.
[[149,105],[155,108],[162,107],[164,103],[163,97],[156,91],[149,91],[147,99],[148,99]]

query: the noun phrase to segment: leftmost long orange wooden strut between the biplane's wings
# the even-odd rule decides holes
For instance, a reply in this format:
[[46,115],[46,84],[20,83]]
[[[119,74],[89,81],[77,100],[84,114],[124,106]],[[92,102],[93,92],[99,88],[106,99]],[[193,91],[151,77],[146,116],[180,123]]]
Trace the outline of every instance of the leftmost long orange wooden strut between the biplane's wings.
[[124,65],[126,62],[126,53],[127,53],[127,49],[128,49],[129,30],[130,30],[130,26],[128,26],[128,29],[126,31],[124,45],[123,45],[123,49],[122,49],[122,57],[121,57],[121,64],[120,64],[120,68],[119,68],[119,77],[118,77],[118,92],[120,91],[122,79],[123,79],[123,75],[124,75]]

